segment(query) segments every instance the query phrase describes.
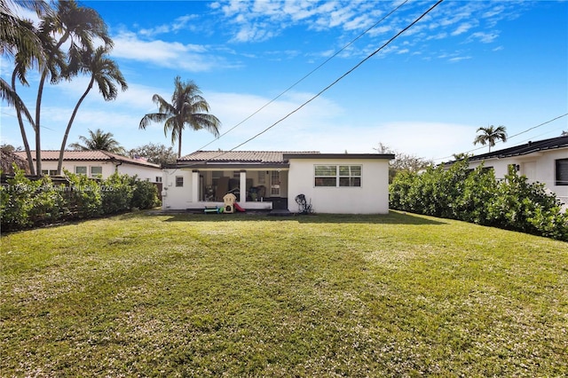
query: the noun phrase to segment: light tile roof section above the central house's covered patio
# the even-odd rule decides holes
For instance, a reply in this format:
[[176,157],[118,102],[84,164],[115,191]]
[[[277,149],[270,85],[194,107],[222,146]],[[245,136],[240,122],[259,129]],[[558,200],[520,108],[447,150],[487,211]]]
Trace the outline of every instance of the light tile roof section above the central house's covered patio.
[[182,161],[210,162],[248,162],[256,164],[284,163],[284,154],[319,154],[317,151],[284,152],[284,151],[195,151],[177,159]]

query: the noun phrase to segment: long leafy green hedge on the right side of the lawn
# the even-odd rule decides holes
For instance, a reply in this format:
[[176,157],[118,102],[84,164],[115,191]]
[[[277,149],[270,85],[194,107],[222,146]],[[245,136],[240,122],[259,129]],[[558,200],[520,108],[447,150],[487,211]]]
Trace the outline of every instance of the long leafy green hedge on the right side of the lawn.
[[390,209],[568,241],[568,212],[556,195],[519,177],[512,167],[503,180],[495,178],[493,169],[468,169],[467,161],[448,170],[400,172],[390,185]]

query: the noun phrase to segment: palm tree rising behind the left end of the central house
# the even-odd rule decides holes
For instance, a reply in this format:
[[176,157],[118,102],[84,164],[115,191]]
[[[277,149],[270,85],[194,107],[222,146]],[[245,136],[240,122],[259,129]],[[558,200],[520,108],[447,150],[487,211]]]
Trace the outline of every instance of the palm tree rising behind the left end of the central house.
[[171,131],[171,143],[178,141],[177,158],[180,158],[181,134],[186,124],[193,130],[208,130],[218,137],[221,122],[215,115],[209,114],[209,104],[201,97],[201,91],[193,81],[183,83],[177,76],[174,85],[171,104],[154,94],[152,101],[158,106],[158,112],[146,114],[139,128],[146,130],[151,122],[164,122],[164,134],[168,135],[168,131]]

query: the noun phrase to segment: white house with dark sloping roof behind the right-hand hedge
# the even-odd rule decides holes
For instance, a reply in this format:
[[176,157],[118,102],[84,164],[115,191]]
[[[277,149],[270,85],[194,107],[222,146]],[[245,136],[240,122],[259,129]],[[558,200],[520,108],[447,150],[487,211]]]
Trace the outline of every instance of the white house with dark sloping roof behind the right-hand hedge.
[[[505,148],[469,158],[469,168],[475,169],[481,163],[486,169],[493,169],[495,177],[504,177],[509,166],[517,169],[531,183],[542,183],[550,192],[568,204],[568,136],[528,142],[525,145]],[[447,163],[446,166],[452,163]]]

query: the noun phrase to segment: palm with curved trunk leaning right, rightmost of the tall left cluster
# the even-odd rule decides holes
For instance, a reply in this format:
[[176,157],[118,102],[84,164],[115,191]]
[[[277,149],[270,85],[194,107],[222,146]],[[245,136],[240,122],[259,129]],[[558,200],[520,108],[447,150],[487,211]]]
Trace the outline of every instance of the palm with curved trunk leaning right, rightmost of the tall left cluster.
[[78,71],[91,73],[91,81],[89,82],[89,85],[87,85],[87,89],[84,91],[83,96],[81,96],[79,101],[77,101],[75,109],[73,109],[73,114],[67,123],[67,129],[65,130],[65,135],[63,136],[63,141],[59,150],[59,162],[57,166],[58,175],[61,174],[61,169],[63,168],[63,154],[65,153],[69,130],[71,130],[71,126],[73,125],[79,106],[81,106],[83,99],[86,98],[91,91],[93,84],[97,83],[100,94],[103,98],[105,98],[105,101],[113,100],[118,95],[118,89],[114,83],[118,83],[121,86],[122,91],[126,91],[128,89],[128,84],[124,80],[121,71],[118,69],[118,65],[116,65],[114,60],[106,57],[106,52],[108,51],[109,48],[102,46],[92,54],[89,51],[83,51]]

